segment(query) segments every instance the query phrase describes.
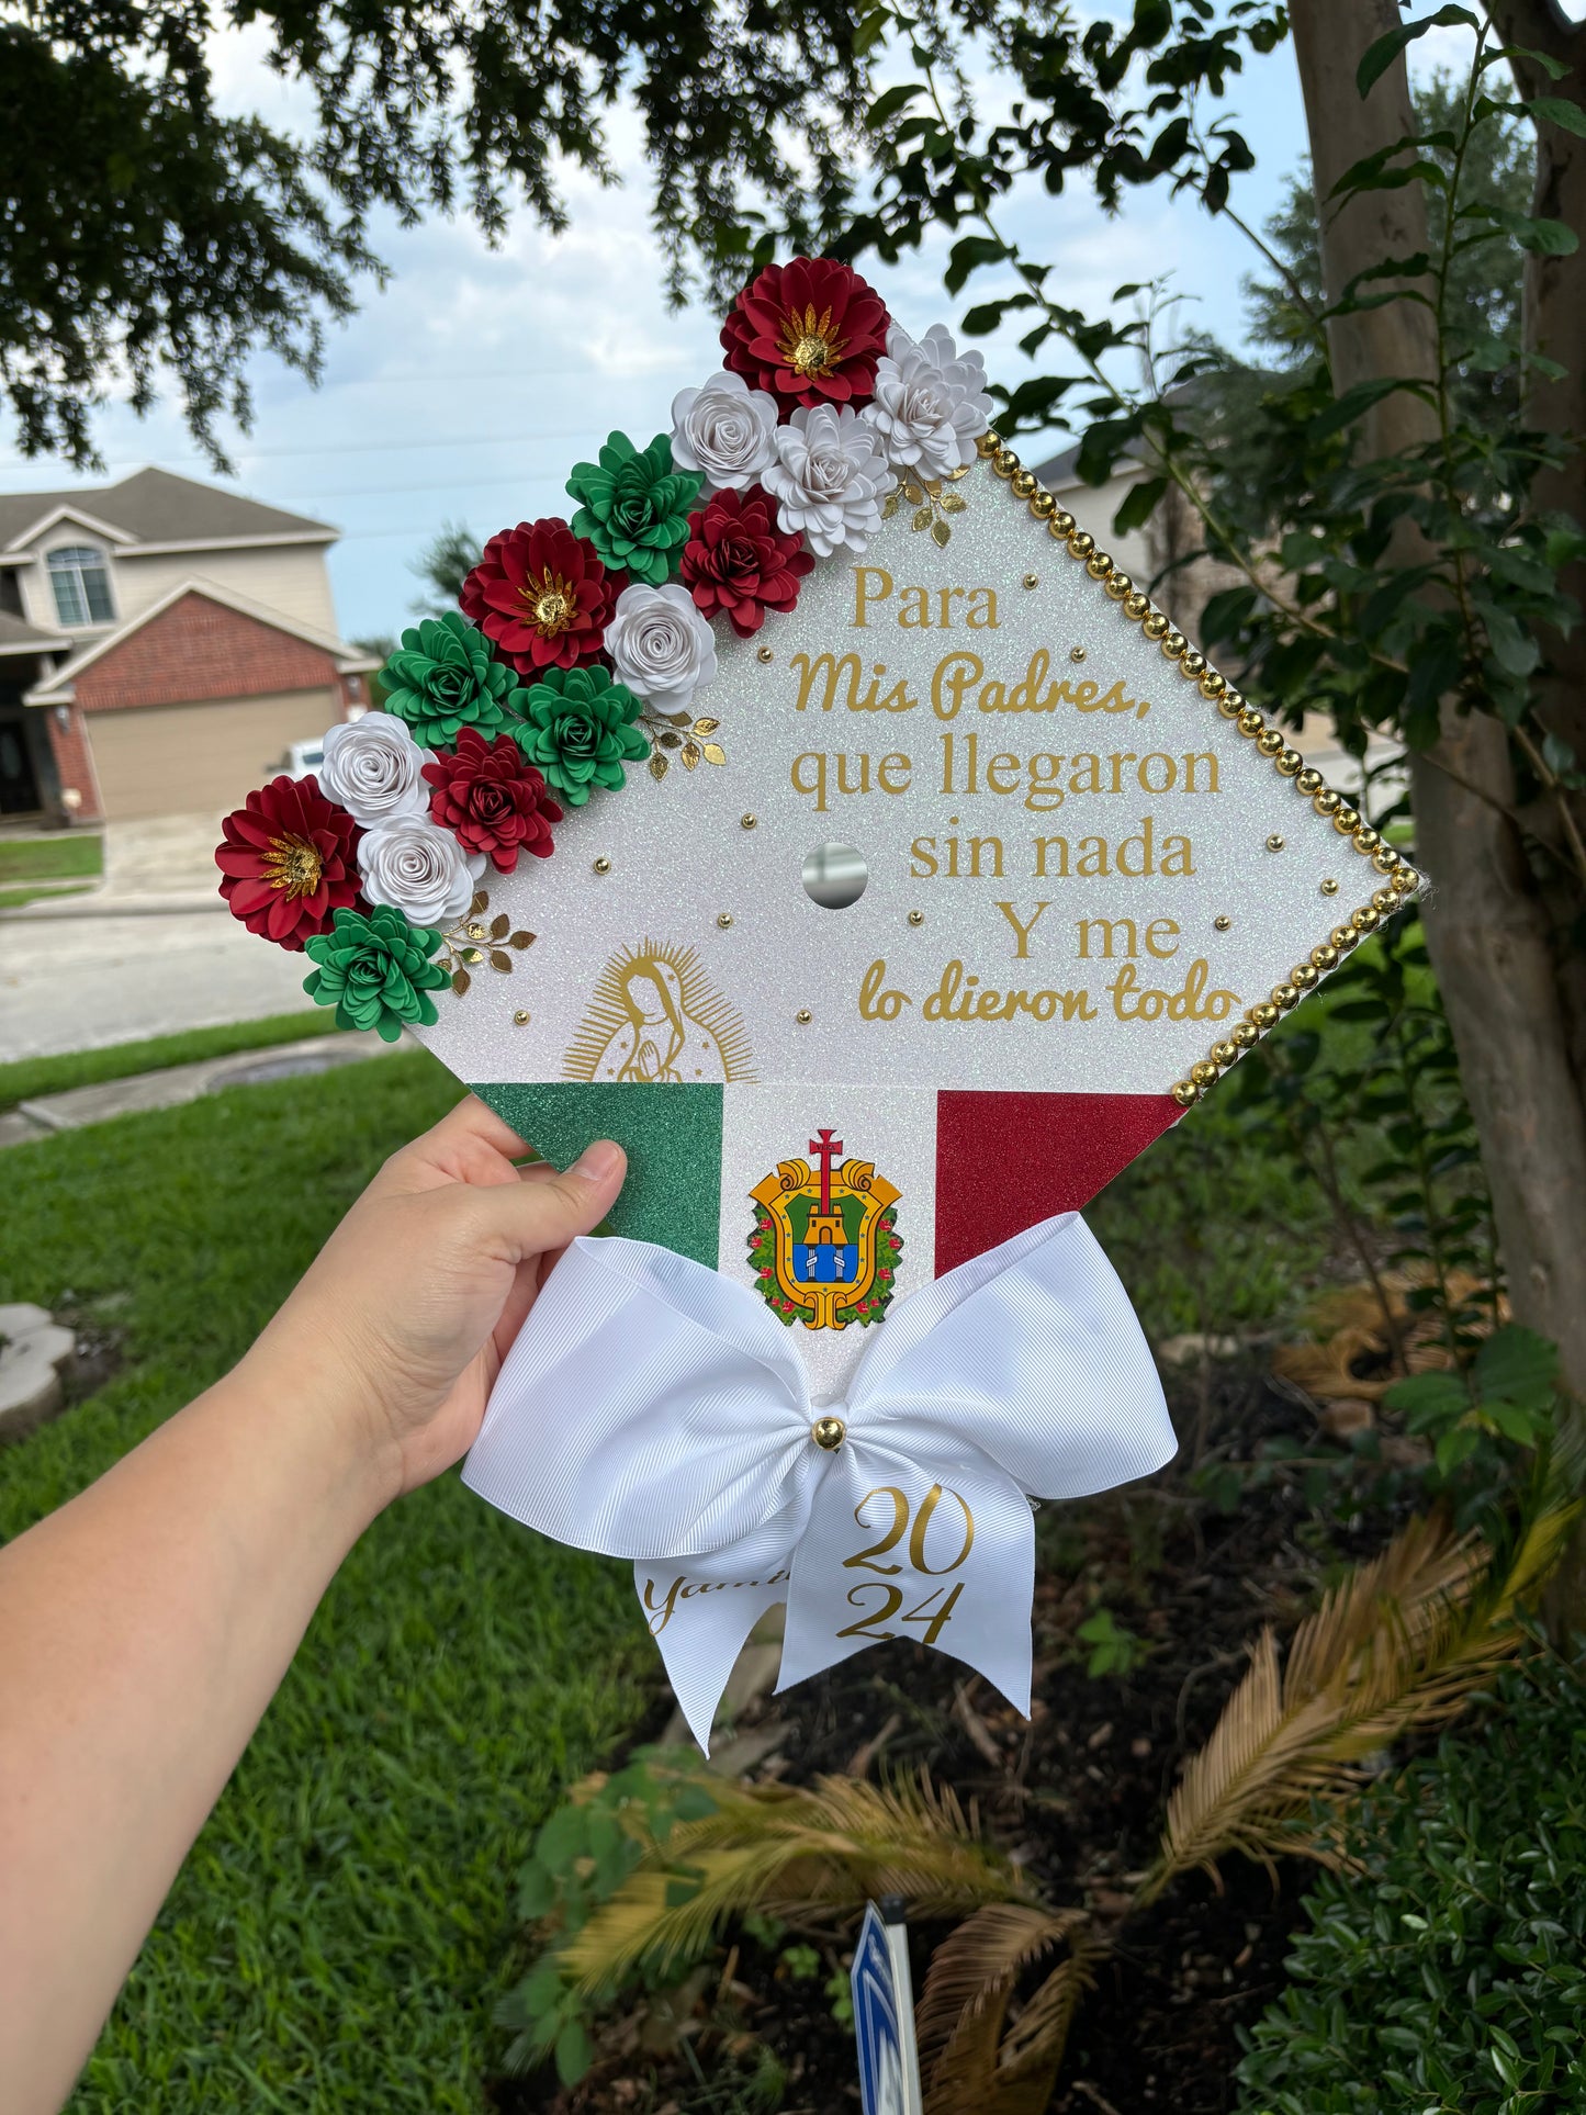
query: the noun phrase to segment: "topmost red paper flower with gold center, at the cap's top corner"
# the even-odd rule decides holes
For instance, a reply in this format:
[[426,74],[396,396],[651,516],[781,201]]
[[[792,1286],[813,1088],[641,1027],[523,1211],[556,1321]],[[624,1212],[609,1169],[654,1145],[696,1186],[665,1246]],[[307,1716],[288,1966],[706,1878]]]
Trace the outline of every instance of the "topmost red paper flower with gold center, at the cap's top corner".
[[886,351],[882,296],[835,258],[768,264],[721,326],[727,366],[770,389],[787,417],[797,404],[865,404]]

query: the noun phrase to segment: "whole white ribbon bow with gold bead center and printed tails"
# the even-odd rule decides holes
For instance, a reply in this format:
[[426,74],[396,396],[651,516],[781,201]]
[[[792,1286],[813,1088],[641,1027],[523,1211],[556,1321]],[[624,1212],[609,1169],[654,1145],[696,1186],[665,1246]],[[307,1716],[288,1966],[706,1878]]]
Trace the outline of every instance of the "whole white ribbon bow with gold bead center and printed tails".
[[1026,1493],[1085,1497],[1174,1451],[1133,1307],[1066,1212],[897,1301],[829,1404],[746,1286],[649,1242],[577,1239],[501,1366],[463,1483],[543,1535],[634,1559],[708,1749],[776,1601],[778,1690],[916,1637],[1028,1713]]

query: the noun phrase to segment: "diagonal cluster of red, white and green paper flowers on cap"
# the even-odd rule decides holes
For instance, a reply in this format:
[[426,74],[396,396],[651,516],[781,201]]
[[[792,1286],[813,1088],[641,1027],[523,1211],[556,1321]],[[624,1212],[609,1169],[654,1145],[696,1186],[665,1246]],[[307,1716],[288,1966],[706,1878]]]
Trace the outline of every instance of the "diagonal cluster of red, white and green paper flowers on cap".
[[332,728],[315,776],[226,816],[220,893],[313,958],[307,990],[343,1026],[434,1022],[434,956],[463,945],[446,928],[486,901],[484,869],[546,859],[565,810],[620,791],[626,766],[723,761],[694,742],[719,721],[691,717],[715,620],[749,639],[789,613],[814,560],[861,554],[903,497],[962,512],[941,480],[975,459],[990,398],[941,324],[916,343],[848,264],[793,258],[738,294],[721,351],[670,434],[611,434],[573,467],[569,520],[491,537],[459,609],[402,635],[383,711]]

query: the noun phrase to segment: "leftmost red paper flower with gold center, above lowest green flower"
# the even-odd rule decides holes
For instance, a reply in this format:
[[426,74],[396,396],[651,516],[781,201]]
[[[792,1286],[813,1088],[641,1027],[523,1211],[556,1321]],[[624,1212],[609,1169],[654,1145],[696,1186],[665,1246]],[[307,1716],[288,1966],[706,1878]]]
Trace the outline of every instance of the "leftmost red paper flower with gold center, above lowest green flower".
[[250,933],[281,948],[328,933],[357,901],[357,823],[317,778],[273,778],[220,825],[220,895]]

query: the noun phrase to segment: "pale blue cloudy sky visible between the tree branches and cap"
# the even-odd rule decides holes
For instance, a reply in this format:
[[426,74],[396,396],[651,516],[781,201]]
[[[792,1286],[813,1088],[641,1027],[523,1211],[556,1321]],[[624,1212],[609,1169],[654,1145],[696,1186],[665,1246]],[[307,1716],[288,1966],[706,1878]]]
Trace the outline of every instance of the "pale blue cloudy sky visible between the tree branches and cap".
[[[1410,13],[1432,8],[1415,0]],[[264,68],[262,51],[256,27],[218,32],[218,95],[285,127],[300,106]],[[1413,51],[1417,66],[1457,63],[1463,32],[1432,32]],[[1305,148],[1292,49],[1252,61],[1224,108],[1256,154],[1256,169],[1235,182],[1233,205],[1260,226]],[[535,226],[529,212],[514,216],[497,250],[465,220],[410,231],[376,224],[372,245],[391,279],[383,292],[366,281],[359,313],[330,328],[321,385],[269,355],[252,364],[252,434],[226,434],[235,478],[214,476],[176,404],[140,419],[112,402],[95,421],[104,476],[78,478],[57,459],[27,461],[0,434],[0,491],[106,482],[148,463],[230,484],[332,522],[340,531],[330,575],[343,637],[393,637],[414,622],[412,603],[423,592],[412,560],[444,522],[486,537],[565,514],[563,486],[575,461],[592,457],[613,427],[641,444],[666,431],[672,396],[721,364],[719,315],[666,307],[632,112],[617,108],[609,135],[624,182],[609,190],[569,171],[571,226],[560,237]],[[1186,319],[1239,343],[1239,279],[1258,258],[1237,228],[1191,197],[1174,201],[1152,188],[1106,218],[1081,188],[1049,199],[1032,184],[1015,192],[1002,220],[1032,256],[1055,262],[1057,300],[1095,315],[1117,286],[1167,279],[1193,302],[1180,311]],[[943,233],[897,269],[861,262],[916,334],[933,321],[958,326],[966,307],[1000,290],[996,273],[979,273],[949,300],[941,290],[949,241]],[[981,347],[992,379],[1004,385],[1034,372],[1013,338],[1009,328],[1004,341]],[[1038,461],[1034,444],[1023,453]]]

